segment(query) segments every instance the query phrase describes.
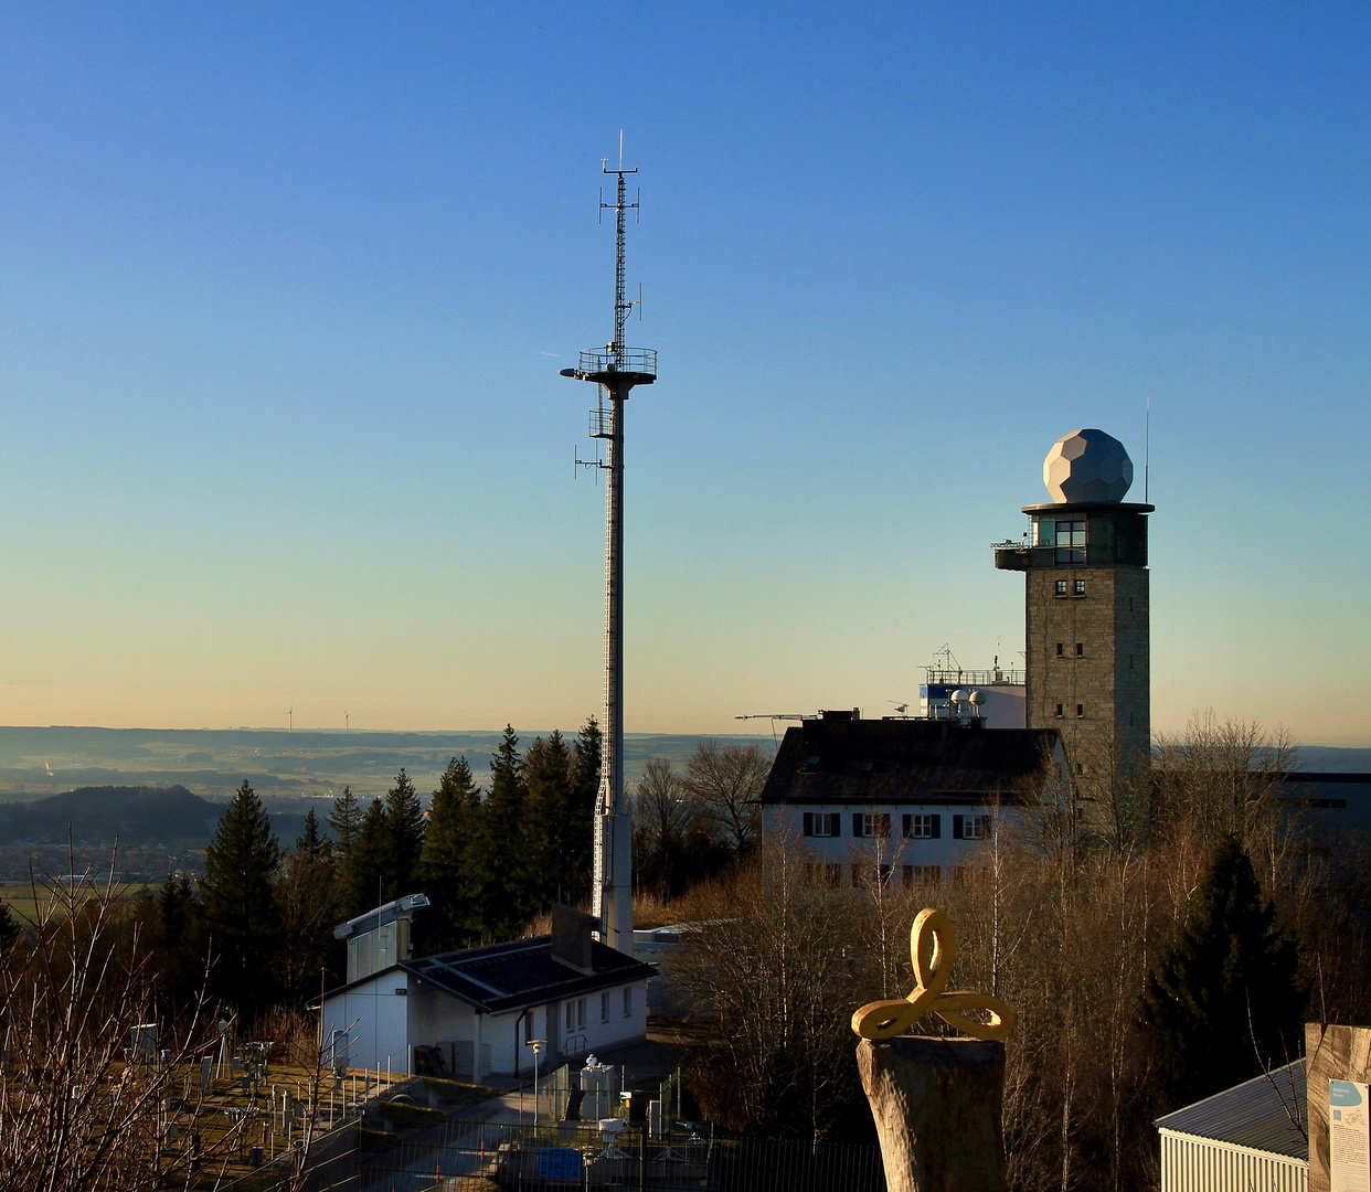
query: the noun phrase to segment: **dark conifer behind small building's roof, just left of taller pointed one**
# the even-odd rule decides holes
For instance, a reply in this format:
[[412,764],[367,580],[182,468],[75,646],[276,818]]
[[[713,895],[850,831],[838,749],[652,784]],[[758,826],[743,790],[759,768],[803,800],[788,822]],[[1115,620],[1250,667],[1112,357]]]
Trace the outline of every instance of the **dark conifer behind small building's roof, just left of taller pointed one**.
[[452,758],[429,804],[418,882],[432,910],[415,925],[435,949],[457,948],[472,933],[472,892],[468,855],[480,815],[481,792],[466,758]]

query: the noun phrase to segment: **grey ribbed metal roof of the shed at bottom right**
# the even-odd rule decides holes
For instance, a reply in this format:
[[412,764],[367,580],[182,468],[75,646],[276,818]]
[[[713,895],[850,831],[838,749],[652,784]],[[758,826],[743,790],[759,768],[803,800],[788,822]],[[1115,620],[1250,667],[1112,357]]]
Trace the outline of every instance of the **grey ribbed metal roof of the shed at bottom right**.
[[1157,1118],[1153,1125],[1178,1134],[1308,1159],[1309,1143],[1291,1121],[1291,1114],[1304,1118],[1304,1060],[1297,1059],[1268,1077],[1259,1076]]

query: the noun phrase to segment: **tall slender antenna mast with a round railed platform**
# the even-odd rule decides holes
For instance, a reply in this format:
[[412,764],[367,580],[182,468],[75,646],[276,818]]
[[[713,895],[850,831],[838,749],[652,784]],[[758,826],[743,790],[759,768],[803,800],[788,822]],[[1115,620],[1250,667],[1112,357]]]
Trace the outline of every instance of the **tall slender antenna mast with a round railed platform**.
[[[628,212],[639,212],[639,197],[628,201],[624,169],[624,133],[618,134],[618,167],[600,160],[602,173],[614,178],[614,201],[600,190],[600,218],[614,212],[614,338],[603,348],[581,352],[574,369],[563,377],[599,386],[599,400],[591,410],[591,438],[605,443],[605,459],[583,460],[579,467],[605,473],[605,721],[599,793],[595,799],[595,880],[592,912],[599,919],[600,943],[631,952],[633,947],[632,821],[624,800],[624,404],[635,385],[657,380],[657,352],[629,348],[624,323],[642,297],[625,296],[624,243]],[[640,196],[642,192],[639,192]],[[642,290],[639,290],[642,293]]]

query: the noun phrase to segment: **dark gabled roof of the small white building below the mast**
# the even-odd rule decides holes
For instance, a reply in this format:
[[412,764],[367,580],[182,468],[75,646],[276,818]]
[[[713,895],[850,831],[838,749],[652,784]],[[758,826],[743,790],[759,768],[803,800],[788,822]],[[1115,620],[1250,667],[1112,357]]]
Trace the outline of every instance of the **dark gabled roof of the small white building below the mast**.
[[583,973],[553,956],[551,936],[402,960],[400,967],[491,1014],[644,981],[657,973],[599,941],[591,944],[594,971]]

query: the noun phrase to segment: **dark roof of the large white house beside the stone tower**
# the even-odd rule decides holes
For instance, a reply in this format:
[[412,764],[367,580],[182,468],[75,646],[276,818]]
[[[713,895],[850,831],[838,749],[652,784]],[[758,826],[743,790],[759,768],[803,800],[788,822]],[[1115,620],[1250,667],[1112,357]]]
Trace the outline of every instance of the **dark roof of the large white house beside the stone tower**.
[[1053,729],[814,719],[786,730],[762,803],[1015,802],[1041,781]]

